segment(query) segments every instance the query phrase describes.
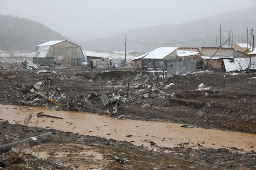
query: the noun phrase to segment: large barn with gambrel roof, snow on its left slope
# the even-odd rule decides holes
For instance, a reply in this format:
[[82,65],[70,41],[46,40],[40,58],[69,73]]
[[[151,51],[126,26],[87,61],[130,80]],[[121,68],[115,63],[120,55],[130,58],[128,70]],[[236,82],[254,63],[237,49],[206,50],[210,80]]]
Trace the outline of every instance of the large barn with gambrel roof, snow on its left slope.
[[40,65],[81,65],[85,57],[79,45],[67,40],[48,41],[36,46],[33,63]]

